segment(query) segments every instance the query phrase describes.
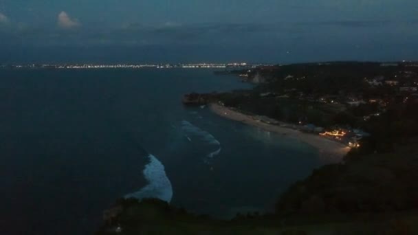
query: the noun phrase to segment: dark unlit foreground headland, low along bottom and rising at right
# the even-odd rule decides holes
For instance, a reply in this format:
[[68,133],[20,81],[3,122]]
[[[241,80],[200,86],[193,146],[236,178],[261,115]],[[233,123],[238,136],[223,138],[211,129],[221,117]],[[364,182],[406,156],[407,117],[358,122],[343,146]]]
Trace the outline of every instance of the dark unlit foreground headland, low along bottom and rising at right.
[[315,170],[281,196],[274,214],[219,221],[155,199],[122,199],[97,234],[418,234],[415,143]]

